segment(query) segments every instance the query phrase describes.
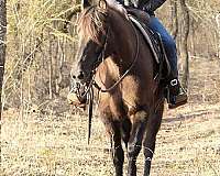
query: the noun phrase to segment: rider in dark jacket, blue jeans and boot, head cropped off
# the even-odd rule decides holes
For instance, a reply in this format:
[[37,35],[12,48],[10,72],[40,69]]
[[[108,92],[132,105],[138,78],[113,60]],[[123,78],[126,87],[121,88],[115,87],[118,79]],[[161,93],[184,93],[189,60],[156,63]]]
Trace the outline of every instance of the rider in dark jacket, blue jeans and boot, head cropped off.
[[168,103],[169,108],[176,108],[187,102],[186,91],[182,88],[178,80],[177,69],[177,50],[176,43],[170,34],[166,31],[160,20],[155,16],[154,11],[158,9],[166,0],[118,0],[125,7],[133,7],[147,12],[151,16],[148,26],[152,31],[157,32],[163,41],[166,56],[170,64],[170,75],[168,79]]

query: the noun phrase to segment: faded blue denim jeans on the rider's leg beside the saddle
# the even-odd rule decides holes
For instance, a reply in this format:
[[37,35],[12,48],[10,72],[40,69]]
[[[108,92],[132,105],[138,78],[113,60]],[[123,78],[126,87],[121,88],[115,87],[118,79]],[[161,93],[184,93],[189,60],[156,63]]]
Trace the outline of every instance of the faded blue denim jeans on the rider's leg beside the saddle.
[[162,42],[164,43],[165,52],[167,59],[170,64],[172,74],[174,77],[178,76],[177,69],[177,51],[176,51],[176,43],[172,35],[166,31],[164,25],[160,22],[157,18],[154,15],[151,16],[150,20],[150,28],[152,31],[157,32],[161,34]]

